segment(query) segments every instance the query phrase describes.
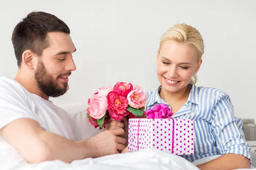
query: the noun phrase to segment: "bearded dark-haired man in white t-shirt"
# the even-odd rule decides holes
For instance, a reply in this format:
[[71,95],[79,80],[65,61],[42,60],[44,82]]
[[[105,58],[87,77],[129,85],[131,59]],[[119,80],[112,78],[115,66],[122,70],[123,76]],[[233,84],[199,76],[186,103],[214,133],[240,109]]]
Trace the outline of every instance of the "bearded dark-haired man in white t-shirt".
[[49,101],[68,90],[76,70],[70,29],[60,19],[32,12],[15,27],[12,43],[18,71],[15,79],[0,77],[0,156],[40,163],[65,162],[119,153],[123,129],[107,130],[73,141],[67,112]]

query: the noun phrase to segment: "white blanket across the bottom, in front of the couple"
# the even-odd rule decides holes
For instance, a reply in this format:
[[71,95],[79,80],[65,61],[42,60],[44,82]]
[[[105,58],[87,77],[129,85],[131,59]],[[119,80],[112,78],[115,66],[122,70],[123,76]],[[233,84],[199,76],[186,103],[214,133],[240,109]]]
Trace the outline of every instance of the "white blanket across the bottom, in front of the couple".
[[71,164],[63,161],[46,161],[41,164],[9,164],[1,170],[199,170],[194,164],[180,156],[158,150],[143,150],[83,159]]

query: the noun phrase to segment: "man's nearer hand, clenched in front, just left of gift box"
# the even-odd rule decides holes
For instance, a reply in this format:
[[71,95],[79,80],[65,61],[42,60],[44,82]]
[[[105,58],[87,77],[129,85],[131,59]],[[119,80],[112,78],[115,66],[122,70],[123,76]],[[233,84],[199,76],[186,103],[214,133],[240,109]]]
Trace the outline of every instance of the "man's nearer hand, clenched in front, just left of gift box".
[[107,130],[91,137],[88,142],[95,153],[93,157],[100,157],[120,153],[125,148],[126,139],[118,137],[122,136],[124,130],[122,128]]

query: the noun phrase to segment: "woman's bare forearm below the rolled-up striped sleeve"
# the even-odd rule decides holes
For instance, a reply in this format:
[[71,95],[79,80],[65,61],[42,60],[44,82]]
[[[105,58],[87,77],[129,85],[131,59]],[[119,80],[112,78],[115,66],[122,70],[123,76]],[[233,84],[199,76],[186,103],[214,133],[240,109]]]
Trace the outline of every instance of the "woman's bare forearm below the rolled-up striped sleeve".
[[234,170],[250,168],[250,160],[244,156],[227,153],[197,166],[201,170]]

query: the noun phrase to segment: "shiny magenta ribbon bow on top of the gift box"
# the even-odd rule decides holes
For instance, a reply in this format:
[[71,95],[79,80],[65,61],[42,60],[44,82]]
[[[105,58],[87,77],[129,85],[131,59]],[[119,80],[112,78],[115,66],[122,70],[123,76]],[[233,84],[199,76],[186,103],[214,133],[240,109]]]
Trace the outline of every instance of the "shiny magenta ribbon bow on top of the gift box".
[[171,109],[163,103],[160,105],[154,105],[153,109],[148,109],[146,111],[146,116],[148,119],[166,119],[171,118],[172,115],[173,113],[171,112]]

